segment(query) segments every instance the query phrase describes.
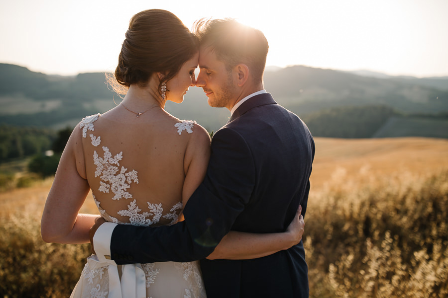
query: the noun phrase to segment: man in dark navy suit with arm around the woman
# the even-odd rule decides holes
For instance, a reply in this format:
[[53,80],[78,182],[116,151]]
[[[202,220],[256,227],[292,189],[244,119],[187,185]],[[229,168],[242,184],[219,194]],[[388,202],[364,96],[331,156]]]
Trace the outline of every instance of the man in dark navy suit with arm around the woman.
[[268,43],[262,32],[217,19],[199,23],[197,34],[196,85],[209,105],[231,112],[212,139],[205,180],[185,206],[185,221],[161,227],[103,224],[97,235],[112,234],[110,245],[100,251],[95,240],[96,253],[117,264],[200,259],[209,298],[308,297],[302,241],[258,259],[205,259],[229,230],[282,232],[299,205],[305,216],[315,147],[299,117],[264,90]]

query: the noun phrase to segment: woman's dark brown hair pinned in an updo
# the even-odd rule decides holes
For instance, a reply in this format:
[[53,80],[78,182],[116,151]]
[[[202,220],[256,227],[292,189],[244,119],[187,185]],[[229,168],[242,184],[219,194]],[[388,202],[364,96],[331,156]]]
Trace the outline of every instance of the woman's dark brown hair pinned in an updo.
[[121,45],[115,69],[120,85],[109,81],[118,94],[126,94],[131,84],[145,87],[153,73],[165,74],[162,81],[166,82],[198,50],[198,38],[173,13],[162,9],[141,11],[131,18]]

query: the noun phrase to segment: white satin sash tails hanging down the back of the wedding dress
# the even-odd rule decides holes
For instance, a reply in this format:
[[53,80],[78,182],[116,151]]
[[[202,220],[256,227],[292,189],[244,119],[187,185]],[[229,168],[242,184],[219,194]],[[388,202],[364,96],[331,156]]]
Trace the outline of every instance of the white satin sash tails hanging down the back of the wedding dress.
[[[140,264],[121,265],[120,279],[118,275],[118,267],[112,260],[109,262],[102,262],[98,260],[96,255],[91,255],[87,258],[87,263],[91,270],[108,266],[108,298],[146,298],[146,277]],[[82,298],[82,292],[85,286],[87,286],[87,281],[81,276],[81,279],[76,284],[70,298]]]

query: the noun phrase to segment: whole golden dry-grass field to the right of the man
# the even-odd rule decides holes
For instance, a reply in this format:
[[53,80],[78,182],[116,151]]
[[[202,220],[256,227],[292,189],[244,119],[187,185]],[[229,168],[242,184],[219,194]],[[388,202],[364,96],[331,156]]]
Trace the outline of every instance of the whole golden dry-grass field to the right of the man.
[[448,141],[316,147],[305,219],[310,296],[448,297]]

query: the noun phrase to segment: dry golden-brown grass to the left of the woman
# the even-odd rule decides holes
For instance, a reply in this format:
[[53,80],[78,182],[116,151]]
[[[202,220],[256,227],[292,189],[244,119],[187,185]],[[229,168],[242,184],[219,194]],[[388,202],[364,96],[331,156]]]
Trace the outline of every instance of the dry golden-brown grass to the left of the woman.
[[[69,297],[90,245],[45,243],[40,218],[52,178],[0,193],[0,297]],[[93,198],[82,212],[96,212]]]

